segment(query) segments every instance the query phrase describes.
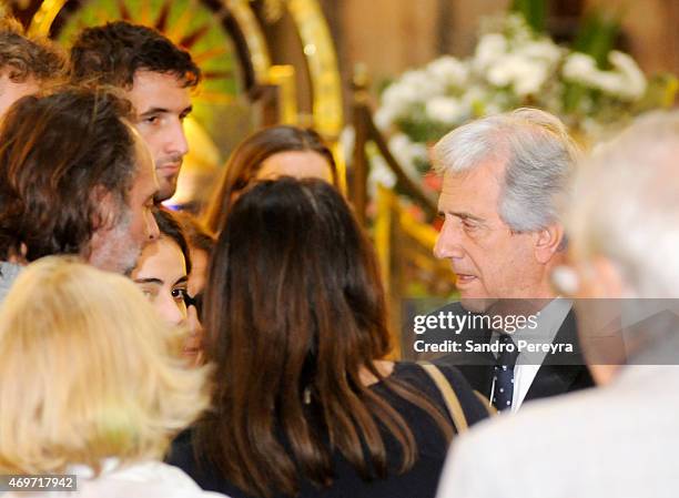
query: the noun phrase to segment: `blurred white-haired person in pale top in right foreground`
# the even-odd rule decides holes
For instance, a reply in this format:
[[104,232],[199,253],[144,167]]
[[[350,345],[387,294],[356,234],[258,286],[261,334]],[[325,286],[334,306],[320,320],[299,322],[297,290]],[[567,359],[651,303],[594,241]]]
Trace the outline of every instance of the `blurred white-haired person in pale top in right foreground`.
[[[637,324],[622,365],[596,364],[599,341],[586,326],[589,312],[610,302],[625,313],[657,298],[671,298],[666,309],[676,307],[677,157],[675,111],[639,120],[578,170],[565,217],[571,263],[563,280],[584,298],[576,301],[582,347],[600,387],[535,403],[460,438],[439,498],[677,496],[676,312]],[[511,448],[510,458],[497,450],[498,440]]]

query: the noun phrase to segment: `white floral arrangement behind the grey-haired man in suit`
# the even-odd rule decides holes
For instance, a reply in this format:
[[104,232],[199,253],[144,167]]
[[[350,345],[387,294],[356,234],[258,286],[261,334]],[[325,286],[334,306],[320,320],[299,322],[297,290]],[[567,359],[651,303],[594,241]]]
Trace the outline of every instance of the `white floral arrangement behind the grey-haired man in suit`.
[[[470,58],[440,57],[386,87],[375,124],[415,180],[430,169],[427,145],[472,119],[521,105],[559,115],[576,135],[594,142],[649,106],[649,84],[635,60],[611,51],[608,62],[600,69],[592,57],[560,47],[534,32],[520,14],[508,14],[487,21]],[[394,186],[381,157],[371,170],[372,183]]]

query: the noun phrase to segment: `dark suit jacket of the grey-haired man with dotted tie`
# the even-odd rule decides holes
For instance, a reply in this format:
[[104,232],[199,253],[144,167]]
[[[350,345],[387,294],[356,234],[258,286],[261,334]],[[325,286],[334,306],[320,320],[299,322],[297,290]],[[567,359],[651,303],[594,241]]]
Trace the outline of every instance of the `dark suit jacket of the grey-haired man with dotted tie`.
[[[459,303],[445,306],[443,311],[467,313]],[[435,314],[438,312],[436,311]],[[452,338],[448,331],[428,331],[426,334],[428,336],[427,341],[442,342],[442,339]],[[491,335],[493,331],[462,331],[460,334],[455,336],[455,341],[463,345],[468,339],[476,344],[488,344]],[[547,354],[524,398],[525,402],[594,386],[589,369],[585,365],[585,358],[579,350],[577,326],[572,311],[564,319],[553,344],[572,344],[575,348],[572,353]],[[450,353],[432,359],[432,362],[439,365],[456,366],[474,389],[487,398],[490,397],[493,367],[496,363],[491,353]]]

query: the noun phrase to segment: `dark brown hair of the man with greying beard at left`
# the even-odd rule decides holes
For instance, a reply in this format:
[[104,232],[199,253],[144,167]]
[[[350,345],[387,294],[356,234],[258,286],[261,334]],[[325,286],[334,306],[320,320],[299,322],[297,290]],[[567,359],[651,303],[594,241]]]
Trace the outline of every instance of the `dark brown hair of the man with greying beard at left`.
[[[104,90],[24,96],[0,128],[0,257],[82,254],[136,174],[131,106]],[[23,246],[23,247],[22,247]]]

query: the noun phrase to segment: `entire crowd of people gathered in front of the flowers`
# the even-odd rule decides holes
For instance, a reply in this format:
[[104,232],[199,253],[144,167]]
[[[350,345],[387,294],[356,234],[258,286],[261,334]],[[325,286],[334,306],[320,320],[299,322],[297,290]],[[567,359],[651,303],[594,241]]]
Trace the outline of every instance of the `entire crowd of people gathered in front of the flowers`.
[[672,496],[676,324],[604,364],[574,299],[676,297],[677,112],[589,154],[536,109],[444,136],[446,309],[520,303],[575,350],[464,329],[499,353],[413,363],[389,359],[375,253],[313,130],[246,138],[202,218],[163,207],[201,78],[146,27],[65,50],[0,24],[0,475],[83,497]]

